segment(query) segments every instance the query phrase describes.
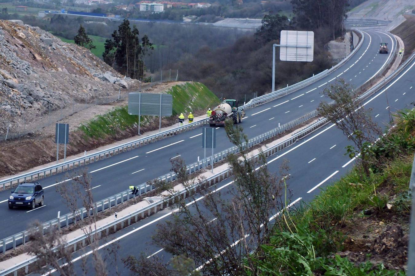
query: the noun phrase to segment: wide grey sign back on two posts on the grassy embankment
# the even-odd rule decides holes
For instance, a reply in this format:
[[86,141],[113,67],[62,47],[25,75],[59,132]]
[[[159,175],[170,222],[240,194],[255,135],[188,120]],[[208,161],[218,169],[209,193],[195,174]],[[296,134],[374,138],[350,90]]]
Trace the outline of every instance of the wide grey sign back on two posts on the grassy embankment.
[[128,94],[128,114],[171,116],[173,96],[171,94],[139,93]]

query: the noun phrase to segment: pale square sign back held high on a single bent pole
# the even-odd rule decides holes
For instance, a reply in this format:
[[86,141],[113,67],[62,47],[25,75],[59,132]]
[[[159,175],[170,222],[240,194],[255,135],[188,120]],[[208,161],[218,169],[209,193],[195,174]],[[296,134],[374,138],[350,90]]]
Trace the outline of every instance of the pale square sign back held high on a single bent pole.
[[281,31],[280,60],[312,61],[314,56],[314,32]]

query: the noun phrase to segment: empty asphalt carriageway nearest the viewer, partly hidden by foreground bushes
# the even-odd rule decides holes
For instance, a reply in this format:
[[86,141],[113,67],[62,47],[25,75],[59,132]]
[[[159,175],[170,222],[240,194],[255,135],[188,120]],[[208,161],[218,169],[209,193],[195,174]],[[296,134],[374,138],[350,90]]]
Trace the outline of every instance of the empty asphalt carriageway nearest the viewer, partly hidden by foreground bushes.
[[[413,108],[410,103],[415,100],[415,87],[413,87],[415,85],[411,80],[414,74],[415,61],[383,89],[364,101],[365,108],[372,108],[372,117],[379,126],[388,125],[389,110],[393,113],[403,108]],[[278,154],[269,156],[267,166],[271,172],[277,172],[281,162],[285,159],[289,160],[291,176],[288,185],[293,192],[292,203],[307,202],[319,194],[321,189],[339,180],[344,173],[352,168],[354,159],[344,155],[344,148],[350,144],[352,142],[347,140],[347,137],[334,124],[330,123],[283,149]],[[222,194],[225,194],[232,187],[231,185],[232,179],[229,178],[217,183],[212,189],[221,190]],[[189,205],[193,206],[194,204],[189,202]],[[165,260],[170,259],[171,256],[163,248],[152,244],[151,236],[155,233],[157,224],[164,223],[171,218],[173,211],[174,209],[164,209],[111,235],[105,244],[100,245],[100,253],[104,255],[104,248],[116,244],[119,247],[117,250],[119,260],[129,255],[138,256],[141,253],[146,254],[148,258],[158,256]],[[74,254],[74,261],[79,262],[81,258],[86,257],[87,268],[90,269],[89,271],[93,271],[91,265],[93,260],[89,254],[88,250],[77,252]],[[122,275],[129,273],[122,262],[117,262],[117,266]],[[110,273],[115,272],[113,264],[107,268]]]

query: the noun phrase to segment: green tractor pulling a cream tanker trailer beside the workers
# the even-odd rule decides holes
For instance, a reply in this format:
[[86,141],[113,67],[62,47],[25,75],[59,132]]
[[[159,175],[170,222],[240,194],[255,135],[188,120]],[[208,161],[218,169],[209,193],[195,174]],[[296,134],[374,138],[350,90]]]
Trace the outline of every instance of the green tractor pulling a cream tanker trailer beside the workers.
[[238,124],[242,122],[244,116],[245,111],[238,107],[237,100],[224,100],[219,106],[212,109],[209,125],[211,127],[224,126],[226,120],[233,120],[234,124]]

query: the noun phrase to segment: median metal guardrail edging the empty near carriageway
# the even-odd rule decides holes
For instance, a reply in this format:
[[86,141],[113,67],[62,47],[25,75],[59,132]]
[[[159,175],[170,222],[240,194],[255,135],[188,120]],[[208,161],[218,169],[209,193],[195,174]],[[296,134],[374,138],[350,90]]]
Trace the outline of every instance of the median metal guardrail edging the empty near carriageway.
[[[275,146],[272,146],[268,149],[266,149],[264,151],[264,154],[266,157],[271,156],[273,154],[275,154],[278,151],[281,151],[282,149],[284,149],[285,147],[295,143],[295,141],[297,141],[298,139],[302,138],[303,136],[309,134],[310,132],[320,128],[322,125],[325,125],[325,123],[327,123],[327,120],[320,120],[316,123],[314,123],[313,125],[307,127],[306,129],[298,132],[297,134],[293,135],[292,137],[286,139],[285,141],[276,144]],[[251,157],[251,158],[255,158],[255,161],[258,161],[259,158],[259,154],[256,154],[255,156]],[[232,171],[230,170],[230,168],[223,170],[220,173],[217,173],[215,175],[212,175],[211,177],[207,178],[205,180],[205,182],[203,183],[198,183],[196,185],[194,185],[193,187],[191,187],[189,190],[193,190],[196,191],[197,187],[201,184],[205,184],[205,185],[214,185],[217,182],[220,182],[222,180],[225,180],[226,178],[228,178],[230,175],[232,175]],[[183,199],[186,198],[186,194],[189,191],[188,189],[183,189],[181,191],[177,192],[177,196],[183,197]],[[171,203],[170,203],[171,202]],[[112,228],[114,232],[116,232],[118,226],[120,226],[120,229],[124,228],[125,225],[129,226],[131,223],[136,223],[139,219],[139,216],[141,218],[144,218],[145,216],[150,216],[151,213],[155,214],[158,211],[163,210],[164,208],[167,208],[169,206],[169,204],[173,204],[174,201],[169,199],[169,198],[161,198],[160,200],[153,202],[151,204],[149,204],[148,206],[143,207],[142,209],[139,209],[137,211],[134,211],[130,214],[127,214],[121,218],[117,218],[115,221],[112,221],[108,224],[105,224],[103,226],[98,227],[96,230],[93,230],[92,232],[92,236],[98,236],[98,239],[101,238],[103,232],[105,231],[105,235],[109,235],[110,234],[110,229]],[[93,210],[90,210],[93,211]],[[134,219],[134,221],[133,221]],[[78,238],[75,238],[73,240],[68,241],[67,246],[73,246],[74,247],[74,251],[76,251],[76,247],[77,244],[82,242],[83,240],[87,239],[87,235],[82,235]],[[36,262],[37,261],[37,257],[31,257],[30,259],[25,260],[24,262],[21,262],[20,264],[16,264],[15,266],[12,266],[8,269],[5,269],[3,271],[0,271],[0,276],[5,276],[7,274],[10,273],[15,273],[15,275],[17,275],[17,271],[19,269],[23,269],[25,273],[27,273],[29,271],[29,265]]]

